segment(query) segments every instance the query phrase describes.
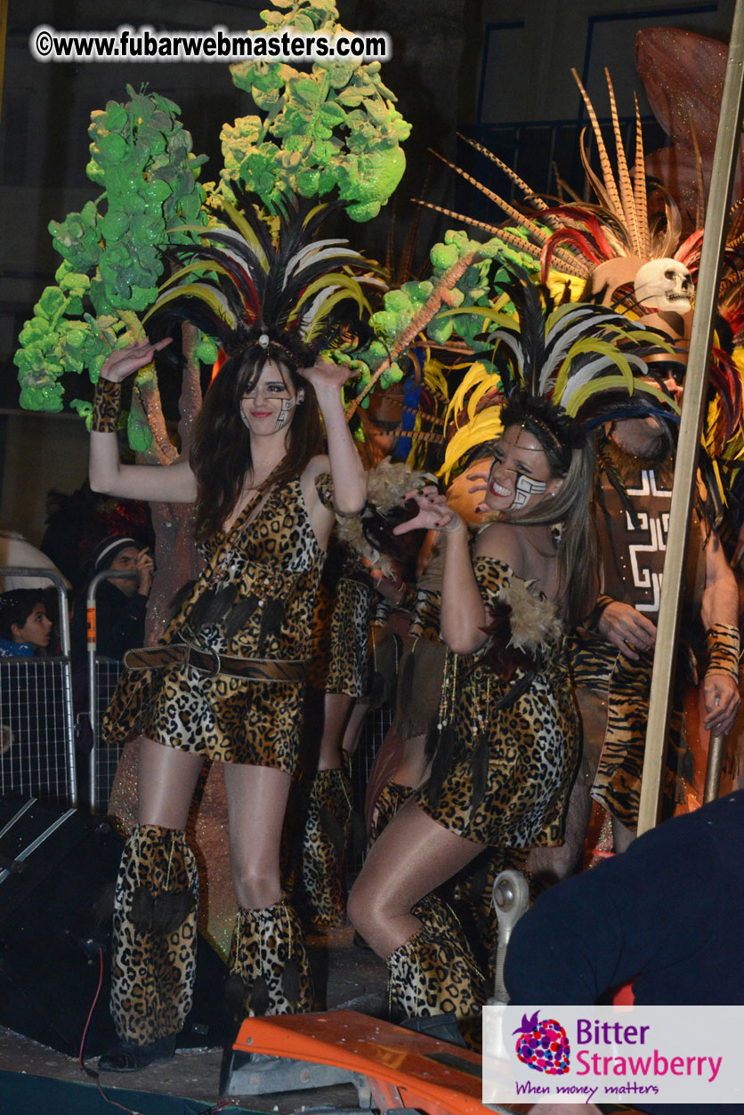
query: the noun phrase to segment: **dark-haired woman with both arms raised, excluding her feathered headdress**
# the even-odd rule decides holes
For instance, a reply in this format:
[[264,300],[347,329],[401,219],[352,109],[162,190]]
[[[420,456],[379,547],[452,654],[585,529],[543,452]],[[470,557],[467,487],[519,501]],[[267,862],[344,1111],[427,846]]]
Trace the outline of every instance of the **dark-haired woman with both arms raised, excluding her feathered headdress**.
[[[115,1072],[171,1057],[191,1006],[197,876],[184,830],[205,759],[223,764],[228,797],[235,1015],[311,1009],[302,929],[281,893],[280,836],[334,505],[352,514],[366,495],[341,405],[346,370],[322,360],[302,369],[299,346],[294,356],[268,336],[220,368],[191,464],[120,465],[120,382],[166,343],[131,345],[106,359],[90,446],[94,491],[196,501],[205,556],[161,643],[125,660],[107,717],[109,739],[143,737],[138,824],[114,915],[112,1012],[122,1041],[100,1061]],[[318,455],[321,415],[328,457]]]

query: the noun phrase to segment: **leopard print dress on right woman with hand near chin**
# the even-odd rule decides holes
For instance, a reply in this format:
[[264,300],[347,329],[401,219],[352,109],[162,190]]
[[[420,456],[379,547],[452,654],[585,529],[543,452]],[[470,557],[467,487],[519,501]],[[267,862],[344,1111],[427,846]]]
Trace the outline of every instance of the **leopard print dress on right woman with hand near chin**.
[[[529,589],[496,559],[479,556],[473,568],[486,603],[514,582]],[[479,844],[559,844],[579,757],[579,720],[562,637],[541,644],[534,677],[503,708],[499,701],[519,687],[524,669],[518,668],[506,681],[476,655],[452,659],[443,697],[444,706],[456,662],[452,756],[441,788],[434,788],[432,777],[416,792],[418,805],[445,828]],[[433,770],[436,763],[435,756]]]

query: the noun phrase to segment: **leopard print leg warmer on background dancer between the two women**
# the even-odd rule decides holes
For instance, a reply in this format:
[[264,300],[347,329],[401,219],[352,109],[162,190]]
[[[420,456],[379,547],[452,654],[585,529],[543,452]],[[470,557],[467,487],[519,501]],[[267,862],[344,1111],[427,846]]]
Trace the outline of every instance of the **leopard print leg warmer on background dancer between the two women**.
[[318,770],[312,779],[302,841],[302,889],[320,929],[346,925],[342,878],[351,825],[351,783],[346,772]]

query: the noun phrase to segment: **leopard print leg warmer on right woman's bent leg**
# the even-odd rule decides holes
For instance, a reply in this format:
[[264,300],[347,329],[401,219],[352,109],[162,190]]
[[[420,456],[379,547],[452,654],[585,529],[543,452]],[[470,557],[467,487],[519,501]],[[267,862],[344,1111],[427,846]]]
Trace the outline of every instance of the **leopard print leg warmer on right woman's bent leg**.
[[479,1018],[486,990],[455,914],[435,895],[414,913],[422,928],[387,958],[390,1018]]

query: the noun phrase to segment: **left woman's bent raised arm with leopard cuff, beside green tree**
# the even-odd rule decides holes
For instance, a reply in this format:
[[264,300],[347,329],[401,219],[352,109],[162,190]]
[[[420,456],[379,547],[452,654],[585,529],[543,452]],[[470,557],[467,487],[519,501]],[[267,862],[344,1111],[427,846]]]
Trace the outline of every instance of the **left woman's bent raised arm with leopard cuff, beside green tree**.
[[154,345],[138,341],[115,349],[106,357],[93,405],[88,477],[94,492],[164,503],[193,503],[196,498],[196,482],[186,462],[163,468],[160,465],[123,465],[119,460],[116,428],[122,381],[148,365],[155,352],[168,343],[170,338]]

